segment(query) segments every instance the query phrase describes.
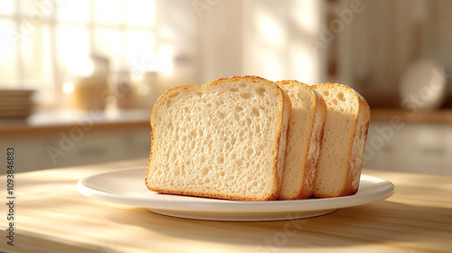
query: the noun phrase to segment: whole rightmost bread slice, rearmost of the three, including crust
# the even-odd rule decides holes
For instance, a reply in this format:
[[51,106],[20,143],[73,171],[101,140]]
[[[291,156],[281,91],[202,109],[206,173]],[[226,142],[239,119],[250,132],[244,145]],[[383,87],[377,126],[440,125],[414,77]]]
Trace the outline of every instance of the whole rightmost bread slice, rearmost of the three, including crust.
[[327,107],[314,196],[353,195],[360,183],[371,111],[365,99],[345,85],[322,83],[312,88]]

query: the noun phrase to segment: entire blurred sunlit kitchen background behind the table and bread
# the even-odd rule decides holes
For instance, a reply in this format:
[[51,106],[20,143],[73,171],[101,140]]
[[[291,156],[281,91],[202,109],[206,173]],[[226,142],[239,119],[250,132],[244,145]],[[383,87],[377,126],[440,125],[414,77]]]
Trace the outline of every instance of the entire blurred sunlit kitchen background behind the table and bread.
[[[452,1],[1,0],[0,157],[143,158],[166,89],[232,75],[367,99],[364,167],[452,174]],[[5,170],[1,173],[5,173]]]

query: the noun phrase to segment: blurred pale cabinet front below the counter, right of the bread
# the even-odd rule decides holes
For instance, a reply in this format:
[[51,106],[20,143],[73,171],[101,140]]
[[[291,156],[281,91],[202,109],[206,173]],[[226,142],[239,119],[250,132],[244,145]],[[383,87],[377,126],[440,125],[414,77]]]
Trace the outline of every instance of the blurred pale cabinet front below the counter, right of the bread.
[[452,126],[372,121],[363,167],[452,175]]

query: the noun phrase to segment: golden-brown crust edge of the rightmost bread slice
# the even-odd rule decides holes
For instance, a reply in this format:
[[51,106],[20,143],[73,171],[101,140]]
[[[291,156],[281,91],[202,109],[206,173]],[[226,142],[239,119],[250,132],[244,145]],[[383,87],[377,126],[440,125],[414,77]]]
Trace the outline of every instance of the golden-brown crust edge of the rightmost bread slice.
[[[365,140],[367,138],[367,131],[371,118],[370,108],[365,99],[354,89],[337,83],[321,83],[312,86],[313,89],[338,89],[344,93],[352,93],[358,108],[353,115],[353,137],[350,138],[347,145],[347,152],[349,157],[346,160],[345,166],[348,168],[344,174],[343,187],[338,194],[321,194],[315,192],[314,196],[317,198],[329,198],[353,195],[358,191],[360,175],[363,165],[363,151],[365,148]],[[359,142],[361,141],[361,142]]]

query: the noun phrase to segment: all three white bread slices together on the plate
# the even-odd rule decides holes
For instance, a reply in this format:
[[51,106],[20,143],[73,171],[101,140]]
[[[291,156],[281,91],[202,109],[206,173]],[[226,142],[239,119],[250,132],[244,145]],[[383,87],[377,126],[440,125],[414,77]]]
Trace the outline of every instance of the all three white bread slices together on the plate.
[[339,84],[241,76],[169,89],[151,113],[146,186],[237,201],[354,194],[369,120]]

